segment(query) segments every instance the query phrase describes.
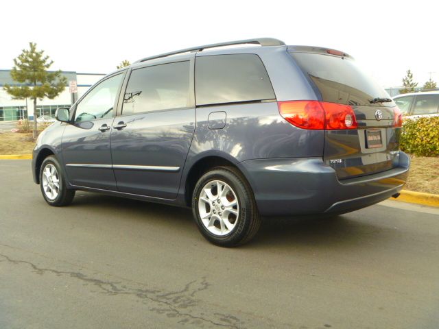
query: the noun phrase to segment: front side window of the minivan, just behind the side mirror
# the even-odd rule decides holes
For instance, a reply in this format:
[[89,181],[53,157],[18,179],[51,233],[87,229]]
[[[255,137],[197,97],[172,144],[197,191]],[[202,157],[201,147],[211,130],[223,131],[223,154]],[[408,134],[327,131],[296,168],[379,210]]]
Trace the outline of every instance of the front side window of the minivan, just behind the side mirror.
[[75,122],[112,117],[117,90],[122,80],[123,74],[121,73],[95,86],[76,106]]

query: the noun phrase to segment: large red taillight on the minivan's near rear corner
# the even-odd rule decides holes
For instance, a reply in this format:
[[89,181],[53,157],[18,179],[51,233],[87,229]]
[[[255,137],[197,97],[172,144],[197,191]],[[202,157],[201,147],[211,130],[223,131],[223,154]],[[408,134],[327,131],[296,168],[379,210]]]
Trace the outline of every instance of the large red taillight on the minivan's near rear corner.
[[281,116],[303,129],[342,130],[358,127],[351,106],[325,101],[278,101]]

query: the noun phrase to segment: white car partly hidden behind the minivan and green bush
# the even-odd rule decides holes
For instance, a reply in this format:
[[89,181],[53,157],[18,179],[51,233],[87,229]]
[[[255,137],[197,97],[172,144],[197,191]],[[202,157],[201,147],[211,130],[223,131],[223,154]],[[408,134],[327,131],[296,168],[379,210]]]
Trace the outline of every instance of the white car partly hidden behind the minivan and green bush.
[[408,119],[439,116],[439,91],[402,94],[393,100]]

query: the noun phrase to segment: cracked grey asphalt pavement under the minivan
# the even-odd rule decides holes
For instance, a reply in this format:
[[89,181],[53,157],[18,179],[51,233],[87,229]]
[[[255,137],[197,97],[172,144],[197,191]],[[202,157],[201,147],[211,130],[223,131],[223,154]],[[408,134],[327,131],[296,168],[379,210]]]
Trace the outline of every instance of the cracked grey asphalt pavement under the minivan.
[[0,160],[0,328],[438,328],[439,210],[386,201],[265,219],[215,247],[188,209],[77,193],[48,206]]

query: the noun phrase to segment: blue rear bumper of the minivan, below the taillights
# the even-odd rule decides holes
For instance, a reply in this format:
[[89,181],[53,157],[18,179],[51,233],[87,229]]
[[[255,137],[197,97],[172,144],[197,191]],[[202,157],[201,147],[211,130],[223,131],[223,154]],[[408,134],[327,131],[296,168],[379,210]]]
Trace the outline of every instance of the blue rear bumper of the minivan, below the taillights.
[[410,158],[394,169],[340,181],[322,158],[260,159],[239,164],[264,216],[348,212],[388,199],[403,188]]

